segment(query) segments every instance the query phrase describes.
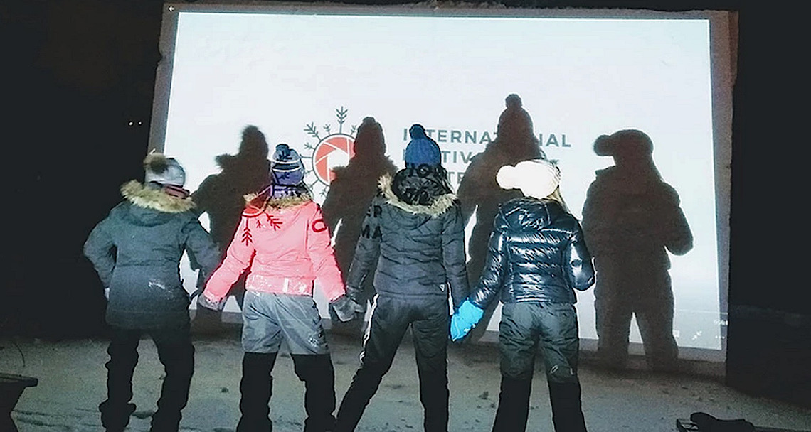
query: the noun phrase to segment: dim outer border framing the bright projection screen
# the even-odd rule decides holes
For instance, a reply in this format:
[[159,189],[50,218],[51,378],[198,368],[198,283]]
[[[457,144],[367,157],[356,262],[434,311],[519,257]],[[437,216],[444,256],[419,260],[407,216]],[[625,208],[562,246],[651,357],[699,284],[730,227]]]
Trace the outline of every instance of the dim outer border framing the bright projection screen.
[[[736,20],[734,11],[652,11],[637,9],[532,8],[504,6],[365,6],[316,3],[167,2],[161,22],[161,62],[156,71],[148,152],[162,152],[169,114],[174,43],[181,12],[267,13],[290,15],[391,15],[420,17],[493,17],[562,19],[707,19],[710,24],[710,79],[715,183],[716,244],[719,275],[719,326],[721,349],[679,347],[682,359],[724,361],[727,349],[727,311],[730,263],[732,189],[732,89],[736,77]],[[583,340],[584,349],[595,349],[594,340]],[[642,353],[633,344],[631,353]]]

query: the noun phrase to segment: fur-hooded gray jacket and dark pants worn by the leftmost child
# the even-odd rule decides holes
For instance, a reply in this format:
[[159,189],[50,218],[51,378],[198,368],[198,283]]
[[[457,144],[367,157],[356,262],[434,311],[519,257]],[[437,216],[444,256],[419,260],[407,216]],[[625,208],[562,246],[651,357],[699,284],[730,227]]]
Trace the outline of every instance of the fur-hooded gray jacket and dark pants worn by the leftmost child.
[[166,376],[152,430],[178,430],[194,372],[189,332],[189,295],[178,263],[193,251],[204,276],[220,251],[200,225],[191,199],[165,194],[136,181],[121,188],[125,200],[90,233],[84,254],[109,289],[106,321],[112,327],[106,363],[107,400],[100,405],[106,430],[123,430],[135,404],[132,374],[142,333],[152,337]]

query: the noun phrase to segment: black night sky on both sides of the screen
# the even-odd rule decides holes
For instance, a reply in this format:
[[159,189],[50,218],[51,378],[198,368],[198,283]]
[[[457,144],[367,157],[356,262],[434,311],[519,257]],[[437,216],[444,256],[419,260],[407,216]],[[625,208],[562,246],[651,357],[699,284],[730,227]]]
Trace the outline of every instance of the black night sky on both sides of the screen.
[[[375,3],[373,0],[365,4]],[[793,196],[800,98],[799,14],[733,1],[525,1],[507,6],[740,11],[734,93],[730,302],[809,313],[789,253],[800,230]],[[162,2],[13,0],[0,6],[6,109],[6,328],[57,334],[101,322],[101,289],[81,245],[141,175]],[[800,77],[804,79],[800,79]],[[805,99],[805,98],[804,98]],[[805,109],[803,109],[805,111]],[[129,121],[143,126],[127,126]],[[9,135],[10,134],[10,135]],[[784,169],[785,167],[785,169]],[[799,186],[799,185],[798,185]],[[800,192],[801,193],[801,192]],[[788,217],[787,217],[788,216]],[[803,256],[800,254],[799,256]],[[754,265],[751,265],[754,264]],[[802,264],[800,264],[801,266]],[[15,306],[19,306],[19,309]]]

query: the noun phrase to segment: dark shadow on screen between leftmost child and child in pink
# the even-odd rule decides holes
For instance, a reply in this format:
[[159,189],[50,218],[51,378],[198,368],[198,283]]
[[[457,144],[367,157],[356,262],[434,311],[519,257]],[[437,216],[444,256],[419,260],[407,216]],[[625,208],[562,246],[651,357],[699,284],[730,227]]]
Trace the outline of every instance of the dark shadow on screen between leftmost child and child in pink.
[[[268,143],[264,134],[256,126],[246,126],[242,130],[242,142],[236,155],[223,154],[215,158],[221,171],[212,174],[200,183],[191,194],[200,214],[208,213],[212,238],[221,250],[221,258],[239,225],[242,210],[245,208],[244,195],[258,192],[268,186],[270,161]],[[245,296],[245,278],[240,276],[230,291],[236,297],[239,307]],[[202,281],[198,281],[198,286]],[[197,308],[193,325],[197,331],[217,331],[221,329],[221,312]]]

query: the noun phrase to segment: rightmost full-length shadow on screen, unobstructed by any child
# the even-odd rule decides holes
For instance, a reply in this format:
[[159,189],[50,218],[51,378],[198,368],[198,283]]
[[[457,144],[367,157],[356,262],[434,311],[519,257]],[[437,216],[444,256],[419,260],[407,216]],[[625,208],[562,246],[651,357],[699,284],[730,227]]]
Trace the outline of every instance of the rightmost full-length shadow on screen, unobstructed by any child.
[[598,355],[605,366],[628,361],[631,318],[654,370],[673,370],[673,292],[668,270],[672,254],[693,248],[679,195],[654,165],[653,143],[640,130],[620,130],[594,142],[614,166],[600,169],[583,206],[583,232],[594,256]]

